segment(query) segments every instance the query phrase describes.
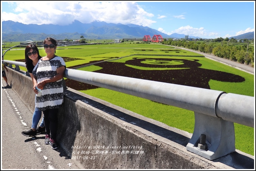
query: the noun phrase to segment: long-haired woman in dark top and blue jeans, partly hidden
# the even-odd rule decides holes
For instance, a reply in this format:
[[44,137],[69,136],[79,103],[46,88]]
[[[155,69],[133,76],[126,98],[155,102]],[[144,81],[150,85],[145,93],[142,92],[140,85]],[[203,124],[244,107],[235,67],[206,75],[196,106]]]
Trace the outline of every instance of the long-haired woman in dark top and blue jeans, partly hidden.
[[[30,44],[25,48],[25,64],[26,64],[27,71],[32,80],[33,80],[32,71],[40,58],[42,57],[39,55],[39,50],[34,44]],[[42,111],[38,110],[38,108],[35,106],[34,114],[32,117],[31,129],[28,131],[22,131],[21,133],[27,137],[36,137],[36,135],[45,132],[44,118],[42,119],[42,122],[39,125],[39,127],[37,127],[37,124],[40,121],[41,116],[42,116]]]

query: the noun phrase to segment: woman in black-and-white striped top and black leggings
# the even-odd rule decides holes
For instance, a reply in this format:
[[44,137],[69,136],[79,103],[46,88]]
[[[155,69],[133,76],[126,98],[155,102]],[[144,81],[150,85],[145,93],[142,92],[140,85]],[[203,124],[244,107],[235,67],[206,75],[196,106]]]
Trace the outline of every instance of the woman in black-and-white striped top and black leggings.
[[56,40],[48,37],[43,44],[46,56],[34,67],[33,88],[36,94],[36,88],[41,89],[41,96],[36,96],[36,106],[44,113],[44,143],[50,144],[52,149],[57,149],[58,112],[64,100],[63,76],[66,65],[63,58],[55,55]]

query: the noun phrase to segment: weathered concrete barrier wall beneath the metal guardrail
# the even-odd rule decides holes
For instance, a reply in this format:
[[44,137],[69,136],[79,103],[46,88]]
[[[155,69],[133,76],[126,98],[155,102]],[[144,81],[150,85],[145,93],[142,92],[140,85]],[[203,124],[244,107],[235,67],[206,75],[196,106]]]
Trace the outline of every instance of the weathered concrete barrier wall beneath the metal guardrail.
[[[31,78],[11,68],[7,77],[32,117]],[[212,161],[187,151],[191,136],[74,89],[64,90],[57,140],[81,169],[254,168],[254,157],[239,150]]]

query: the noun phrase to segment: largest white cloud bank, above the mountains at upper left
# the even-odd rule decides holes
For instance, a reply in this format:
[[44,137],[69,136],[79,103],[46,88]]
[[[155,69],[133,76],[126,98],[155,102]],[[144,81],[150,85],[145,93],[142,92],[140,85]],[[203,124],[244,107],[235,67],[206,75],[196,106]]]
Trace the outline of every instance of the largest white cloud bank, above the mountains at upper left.
[[156,21],[154,15],[147,13],[136,2],[93,2],[93,1],[17,1],[15,12],[1,15],[2,21],[11,20],[24,24],[68,25],[78,20],[82,23],[104,21],[107,23],[136,24],[150,26]]

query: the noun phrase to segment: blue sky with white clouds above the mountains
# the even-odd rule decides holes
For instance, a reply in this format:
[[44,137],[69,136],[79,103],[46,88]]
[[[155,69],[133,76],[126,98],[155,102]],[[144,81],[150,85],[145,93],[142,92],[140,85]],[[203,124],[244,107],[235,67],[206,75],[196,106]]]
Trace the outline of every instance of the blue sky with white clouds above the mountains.
[[[148,26],[165,34],[226,38],[255,29],[255,1],[1,1],[1,21]],[[152,35],[153,36],[153,35]]]

